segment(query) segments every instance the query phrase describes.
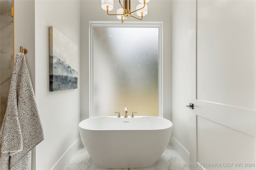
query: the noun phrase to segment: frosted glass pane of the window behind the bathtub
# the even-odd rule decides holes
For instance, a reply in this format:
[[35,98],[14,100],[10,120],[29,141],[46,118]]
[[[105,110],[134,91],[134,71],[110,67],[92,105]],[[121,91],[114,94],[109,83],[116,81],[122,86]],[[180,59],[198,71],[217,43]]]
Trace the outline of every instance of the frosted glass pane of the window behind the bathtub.
[[158,116],[158,28],[94,27],[92,115]]

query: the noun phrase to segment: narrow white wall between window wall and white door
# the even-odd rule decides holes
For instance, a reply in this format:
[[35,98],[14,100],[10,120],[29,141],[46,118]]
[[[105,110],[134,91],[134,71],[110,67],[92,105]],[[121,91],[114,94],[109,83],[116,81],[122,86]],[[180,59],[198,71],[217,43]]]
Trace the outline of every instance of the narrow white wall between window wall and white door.
[[[190,64],[195,64],[189,62],[189,27],[189,1],[172,1],[172,143],[179,143],[187,156],[189,120],[193,110],[186,105],[192,102],[189,76]],[[183,159],[188,161],[188,157],[181,152]]]

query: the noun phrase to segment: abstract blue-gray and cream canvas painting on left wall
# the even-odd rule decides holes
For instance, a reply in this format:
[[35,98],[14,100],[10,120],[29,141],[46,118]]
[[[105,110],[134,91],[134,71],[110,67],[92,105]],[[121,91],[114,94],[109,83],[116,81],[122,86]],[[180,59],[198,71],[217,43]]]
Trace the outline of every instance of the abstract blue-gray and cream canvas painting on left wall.
[[78,46],[53,26],[50,35],[50,92],[77,88]]

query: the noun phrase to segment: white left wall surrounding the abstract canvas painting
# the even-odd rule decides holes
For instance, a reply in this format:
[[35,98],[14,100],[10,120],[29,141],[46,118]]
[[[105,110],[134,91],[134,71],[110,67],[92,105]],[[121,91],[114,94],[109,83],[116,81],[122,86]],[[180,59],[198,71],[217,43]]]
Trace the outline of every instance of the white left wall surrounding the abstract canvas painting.
[[[35,1],[35,91],[44,141],[36,147],[36,169],[50,170],[80,137],[80,66],[78,89],[49,92],[49,26],[78,45],[80,63],[80,1]],[[30,52],[30,51],[29,51]],[[68,163],[68,162],[66,162]]]

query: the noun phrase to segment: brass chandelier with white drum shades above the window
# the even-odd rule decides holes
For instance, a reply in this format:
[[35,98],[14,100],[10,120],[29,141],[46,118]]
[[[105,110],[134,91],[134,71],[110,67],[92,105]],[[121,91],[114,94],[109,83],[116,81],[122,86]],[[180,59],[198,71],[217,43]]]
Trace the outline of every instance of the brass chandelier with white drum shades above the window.
[[[122,8],[119,8],[116,12],[116,14],[109,14],[108,11],[113,10],[114,8],[114,0],[101,0],[101,8],[105,11],[107,11],[107,14],[110,16],[117,16],[119,20],[124,22],[126,18],[136,18],[138,20],[142,20],[143,16],[146,16],[148,14],[148,6],[146,3],[148,3],[150,0],[138,0],[140,4],[137,5],[137,8],[135,11],[131,12],[131,0],[124,0],[124,4],[122,5],[120,0],[119,3],[122,6]],[[137,16],[140,16],[141,18],[137,18],[135,16],[132,16],[132,13],[136,12]]]

